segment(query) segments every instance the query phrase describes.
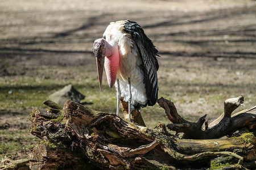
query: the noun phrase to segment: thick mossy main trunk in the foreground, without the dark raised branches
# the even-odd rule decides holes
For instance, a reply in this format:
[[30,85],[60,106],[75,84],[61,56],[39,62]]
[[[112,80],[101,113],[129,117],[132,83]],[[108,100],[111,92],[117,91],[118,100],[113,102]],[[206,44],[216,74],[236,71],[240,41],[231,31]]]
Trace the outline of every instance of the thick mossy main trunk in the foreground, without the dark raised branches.
[[[56,112],[49,116],[51,112],[31,112],[31,133],[42,142],[31,153],[30,168],[199,169],[220,161],[215,160],[220,155],[222,163],[236,164],[230,167],[255,167],[256,139],[251,133],[229,139],[177,139],[164,125],[151,130],[71,100],[58,117]],[[183,120],[178,114],[175,118]]]

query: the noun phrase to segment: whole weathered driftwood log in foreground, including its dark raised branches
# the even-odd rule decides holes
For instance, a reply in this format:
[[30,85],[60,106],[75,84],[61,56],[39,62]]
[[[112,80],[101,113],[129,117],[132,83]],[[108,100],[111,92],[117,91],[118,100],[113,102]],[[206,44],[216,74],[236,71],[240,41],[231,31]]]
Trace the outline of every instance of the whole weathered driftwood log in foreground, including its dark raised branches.
[[[63,108],[46,101],[51,109],[30,115],[30,132],[42,140],[31,152],[30,169],[254,169],[256,107],[231,116],[242,102],[242,96],[226,100],[222,118],[203,130],[205,116],[186,121],[170,100],[159,99],[173,122],[167,128],[184,133],[180,139],[164,124],[148,129],[71,100]],[[242,129],[248,133],[234,133]],[[216,139],[232,134],[238,137]]]

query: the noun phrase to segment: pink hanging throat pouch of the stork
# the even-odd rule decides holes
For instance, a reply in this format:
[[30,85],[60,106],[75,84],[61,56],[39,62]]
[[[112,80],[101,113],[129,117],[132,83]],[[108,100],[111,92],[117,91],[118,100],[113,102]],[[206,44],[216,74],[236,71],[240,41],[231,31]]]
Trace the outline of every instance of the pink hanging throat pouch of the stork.
[[[119,67],[120,54],[117,42],[113,42],[113,44],[109,43],[110,48],[110,56],[105,57],[105,71],[106,77],[108,80],[109,87],[112,88],[115,84],[115,80],[117,79],[117,70]],[[108,52],[106,52],[108,54]]]

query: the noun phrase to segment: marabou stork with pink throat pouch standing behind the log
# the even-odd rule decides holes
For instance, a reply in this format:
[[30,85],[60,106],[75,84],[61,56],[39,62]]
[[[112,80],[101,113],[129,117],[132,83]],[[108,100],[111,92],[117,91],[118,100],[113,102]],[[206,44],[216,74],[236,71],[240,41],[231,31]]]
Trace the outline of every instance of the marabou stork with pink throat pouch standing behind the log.
[[112,22],[102,39],[93,44],[98,80],[102,83],[105,66],[109,87],[117,89],[117,114],[120,98],[131,107],[140,109],[154,105],[158,99],[158,50],[145,35],[142,27],[130,20]]

